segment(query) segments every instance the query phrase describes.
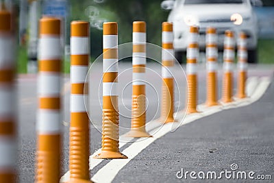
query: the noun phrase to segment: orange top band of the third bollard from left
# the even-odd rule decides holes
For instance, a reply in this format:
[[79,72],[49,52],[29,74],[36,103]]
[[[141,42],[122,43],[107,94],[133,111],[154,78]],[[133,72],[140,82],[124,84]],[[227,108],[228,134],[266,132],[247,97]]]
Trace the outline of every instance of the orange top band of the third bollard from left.
[[90,33],[90,23],[87,21],[72,21],[71,36],[88,37]]

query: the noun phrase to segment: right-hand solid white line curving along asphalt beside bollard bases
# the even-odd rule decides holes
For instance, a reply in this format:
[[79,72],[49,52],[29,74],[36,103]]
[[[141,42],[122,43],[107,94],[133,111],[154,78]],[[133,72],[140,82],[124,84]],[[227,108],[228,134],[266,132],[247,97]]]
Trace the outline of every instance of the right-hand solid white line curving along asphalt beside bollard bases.
[[[268,77],[263,77],[260,79],[260,84],[258,84],[258,86],[256,87],[256,90],[254,91],[253,95],[251,95],[251,98],[240,99],[241,102],[246,101],[245,103],[236,101],[236,102],[234,102],[234,105],[229,105],[229,106],[226,106],[225,108],[220,108],[220,107],[216,107],[214,109],[210,108],[210,109],[207,109],[205,112],[187,115],[186,118],[184,119],[184,123],[181,123],[180,125],[185,125],[186,123],[190,123],[192,121],[195,121],[196,119],[200,119],[202,117],[209,116],[211,114],[214,114],[214,113],[219,112],[224,109],[238,108],[240,106],[247,106],[247,105],[257,101],[258,99],[260,99],[260,97],[262,97],[262,95],[265,93],[265,91],[268,88],[270,83],[271,83],[271,80]],[[111,160],[103,168],[101,168],[99,171],[97,171],[97,173],[95,173],[95,175],[92,177],[92,181],[94,181],[94,182],[112,182],[112,180],[114,180],[117,173],[119,173],[119,171],[121,169],[123,169],[123,167],[125,167],[125,165],[130,160],[132,160],[137,154],[139,154],[140,151],[142,151],[143,149],[148,147],[151,143],[153,143],[153,141],[164,136],[168,132],[171,132],[171,130],[173,128],[173,124],[174,123],[168,123],[166,125],[163,125],[160,128],[160,130],[155,129],[154,131],[157,131],[157,130],[158,131],[155,132],[155,134],[153,134],[152,138],[144,138],[143,141],[137,141],[135,143],[132,143],[132,145],[127,147],[127,149],[125,149],[122,152],[123,154],[126,154],[129,157],[128,159]],[[108,176],[105,176],[106,174]]]

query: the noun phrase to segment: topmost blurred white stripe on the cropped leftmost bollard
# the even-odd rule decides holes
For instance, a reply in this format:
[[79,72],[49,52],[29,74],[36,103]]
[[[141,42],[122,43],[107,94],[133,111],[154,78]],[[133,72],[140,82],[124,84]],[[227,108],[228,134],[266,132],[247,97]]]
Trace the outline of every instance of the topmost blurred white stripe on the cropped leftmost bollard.
[[5,66],[14,63],[14,41],[11,36],[0,36],[0,65],[5,63]]

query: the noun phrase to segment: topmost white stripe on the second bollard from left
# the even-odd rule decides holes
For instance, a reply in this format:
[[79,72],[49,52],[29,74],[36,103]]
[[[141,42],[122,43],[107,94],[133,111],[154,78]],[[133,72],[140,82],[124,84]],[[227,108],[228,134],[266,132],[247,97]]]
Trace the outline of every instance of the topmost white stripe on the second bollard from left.
[[58,36],[45,36],[40,38],[38,44],[39,60],[57,60],[61,59],[62,51],[60,38]]

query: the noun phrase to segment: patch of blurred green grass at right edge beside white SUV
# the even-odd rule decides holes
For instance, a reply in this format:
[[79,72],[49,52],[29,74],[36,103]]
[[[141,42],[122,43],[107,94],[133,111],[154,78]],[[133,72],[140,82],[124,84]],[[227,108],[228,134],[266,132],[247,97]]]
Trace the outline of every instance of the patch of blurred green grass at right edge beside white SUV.
[[260,39],[258,42],[260,64],[274,64],[274,39]]

